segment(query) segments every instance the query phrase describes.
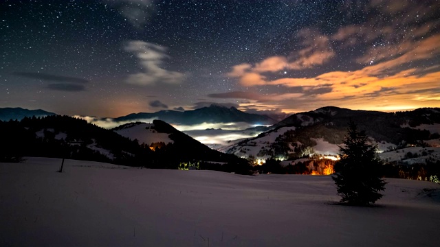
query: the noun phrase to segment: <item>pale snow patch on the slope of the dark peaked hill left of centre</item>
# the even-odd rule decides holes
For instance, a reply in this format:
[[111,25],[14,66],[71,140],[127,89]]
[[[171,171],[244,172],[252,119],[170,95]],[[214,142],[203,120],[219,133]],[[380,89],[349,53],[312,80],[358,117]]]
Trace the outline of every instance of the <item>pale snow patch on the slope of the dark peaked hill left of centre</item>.
[[137,124],[122,130],[115,130],[115,132],[131,140],[137,139],[139,143],[145,143],[146,145],[158,142],[173,143],[173,140],[169,137],[170,134],[158,133],[151,128],[153,126],[154,124]]

